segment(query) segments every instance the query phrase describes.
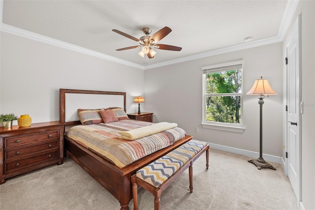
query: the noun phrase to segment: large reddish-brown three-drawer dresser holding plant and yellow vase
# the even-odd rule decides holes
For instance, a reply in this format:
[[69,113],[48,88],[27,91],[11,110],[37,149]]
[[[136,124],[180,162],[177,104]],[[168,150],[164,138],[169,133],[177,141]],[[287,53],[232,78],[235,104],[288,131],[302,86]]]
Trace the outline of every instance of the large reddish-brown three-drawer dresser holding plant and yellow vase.
[[59,121],[0,127],[0,184],[11,176],[63,164],[63,132]]

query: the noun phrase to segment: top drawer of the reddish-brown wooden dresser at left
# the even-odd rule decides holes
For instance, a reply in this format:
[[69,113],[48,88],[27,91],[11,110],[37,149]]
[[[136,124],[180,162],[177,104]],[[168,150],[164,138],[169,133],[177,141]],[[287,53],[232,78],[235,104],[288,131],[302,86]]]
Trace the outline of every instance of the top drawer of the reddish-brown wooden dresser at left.
[[59,131],[45,131],[43,133],[20,135],[16,137],[5,138],[4,149],[14,148],[17,146],[40,143],[59,138]]

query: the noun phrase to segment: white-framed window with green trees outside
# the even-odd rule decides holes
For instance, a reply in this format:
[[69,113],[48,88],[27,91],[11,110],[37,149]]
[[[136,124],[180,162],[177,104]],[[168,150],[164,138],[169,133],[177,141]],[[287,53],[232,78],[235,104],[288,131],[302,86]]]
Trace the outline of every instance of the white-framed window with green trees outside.
[[203,67],[202,70],[203,126],[214,125],[221,130],[226,130],[222,127],[243,127],[243,61]]

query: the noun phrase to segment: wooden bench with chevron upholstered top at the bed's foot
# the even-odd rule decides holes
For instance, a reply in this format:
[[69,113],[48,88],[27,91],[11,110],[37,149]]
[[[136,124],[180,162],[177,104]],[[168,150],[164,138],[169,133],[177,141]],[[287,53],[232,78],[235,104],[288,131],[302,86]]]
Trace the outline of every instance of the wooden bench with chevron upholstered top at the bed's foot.
[[209,145],[203,141],[189,140],[180,147],[138,170],[131,176],[134,210],[138,209],[137,185],[151,192],[154,209],[159,210],[161,193],[187,168],[189,189],[192,193],[192,163],[206,151],[206,169],[209,168]]

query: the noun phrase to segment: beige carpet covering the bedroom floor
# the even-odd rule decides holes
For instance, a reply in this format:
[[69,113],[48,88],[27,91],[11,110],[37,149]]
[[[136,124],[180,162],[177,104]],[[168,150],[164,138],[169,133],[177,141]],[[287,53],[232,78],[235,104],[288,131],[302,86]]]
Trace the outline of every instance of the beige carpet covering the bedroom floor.
[[[257,168],[249,157],[210,150],[193,165],[193,193],[188,170],[161,196],[161,210],[297,210],[288,178],[277,171]],[[133,210],[133,200],[129,207]],[[0,185],[2,210],[119,210],[118,201],[72,159],[7,179]],[[154,197],[138,189],[138,209],[153,210]]]

